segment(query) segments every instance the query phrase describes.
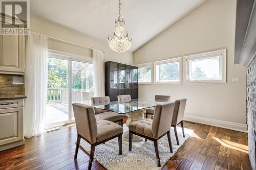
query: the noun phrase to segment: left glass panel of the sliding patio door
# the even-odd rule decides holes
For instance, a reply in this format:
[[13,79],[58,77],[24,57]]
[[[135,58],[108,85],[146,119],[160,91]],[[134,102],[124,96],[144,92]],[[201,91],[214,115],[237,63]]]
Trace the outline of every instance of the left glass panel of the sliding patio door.
[[69,61],[48,58],[48,83],[45,125],[52,127],[69,120]]

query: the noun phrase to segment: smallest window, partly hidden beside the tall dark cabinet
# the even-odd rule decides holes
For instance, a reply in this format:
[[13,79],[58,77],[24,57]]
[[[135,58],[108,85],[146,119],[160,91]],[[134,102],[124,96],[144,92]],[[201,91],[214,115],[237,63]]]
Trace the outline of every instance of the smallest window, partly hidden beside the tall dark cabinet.
[[152,83],[152,63],[140,64],[138,81],[139,84],[151,84]]

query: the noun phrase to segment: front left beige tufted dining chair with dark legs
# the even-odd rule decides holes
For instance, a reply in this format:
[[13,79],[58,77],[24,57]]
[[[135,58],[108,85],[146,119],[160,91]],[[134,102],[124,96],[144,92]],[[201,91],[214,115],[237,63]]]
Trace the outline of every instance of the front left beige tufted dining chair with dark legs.
[[91,144],[90,162],[88,169],[92,168],[93,156],[96,145],[118,137],[119,155],[122,155],[123,128],[108,120],[96,120],[92,106],[74,103],[73,110],[76,122],[77,141],[74,159],[77,159],[80,139]]

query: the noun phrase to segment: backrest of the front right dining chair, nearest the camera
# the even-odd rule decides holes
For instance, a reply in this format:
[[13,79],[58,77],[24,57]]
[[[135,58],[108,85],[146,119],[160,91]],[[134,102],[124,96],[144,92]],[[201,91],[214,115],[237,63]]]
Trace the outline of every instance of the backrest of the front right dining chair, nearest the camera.
[[152,123],[153,138],[158,138],[170,130],[174,113],[174,102],[156,105]]

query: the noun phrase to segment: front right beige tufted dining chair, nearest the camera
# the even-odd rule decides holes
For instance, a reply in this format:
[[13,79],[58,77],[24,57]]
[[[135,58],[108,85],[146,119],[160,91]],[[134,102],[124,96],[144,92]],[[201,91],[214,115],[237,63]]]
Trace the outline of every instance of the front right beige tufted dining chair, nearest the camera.
[[160,164],[157,141],[164,135],[167,135],[170,152],[173,153],[172,139],[170,138],[170,126],[172,124],[174,112],[174,102],[157,105],[155,107],[155,116],[152,119],[142,119],[129,125],[129,151],[132,151],[133,134],[145,139],[152,140],[155,146],[157,165]]

